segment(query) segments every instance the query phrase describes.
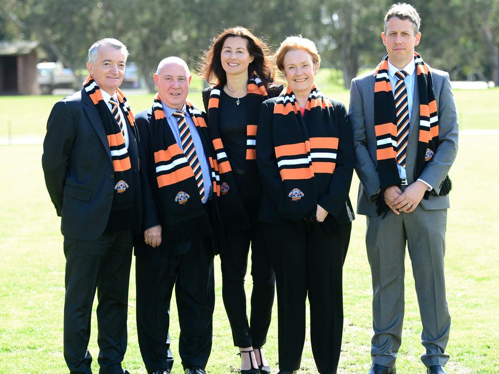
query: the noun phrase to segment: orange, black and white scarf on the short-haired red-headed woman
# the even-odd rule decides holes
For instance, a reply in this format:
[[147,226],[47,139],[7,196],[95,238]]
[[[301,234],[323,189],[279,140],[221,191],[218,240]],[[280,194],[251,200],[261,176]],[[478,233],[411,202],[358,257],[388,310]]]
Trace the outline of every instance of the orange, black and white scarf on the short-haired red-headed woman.
[[328,176],[323,182],[329,183],[336,167],[339,134],[332,123],[335,123],[333,105],[315,85],[303,116],[289,87],[277,98],[272,136],[284,193],[279,198],[278,210],[284,218],[316,221],[320,196],[316,195],[315,179],[323,174]]

